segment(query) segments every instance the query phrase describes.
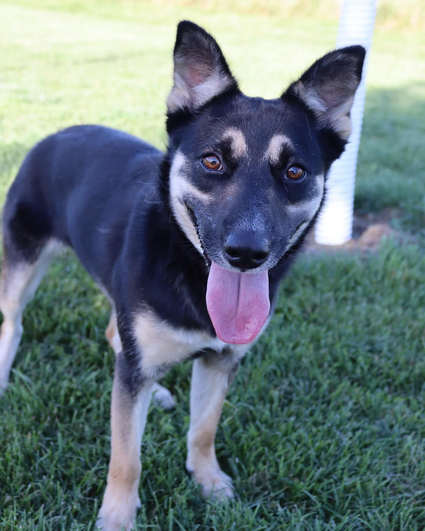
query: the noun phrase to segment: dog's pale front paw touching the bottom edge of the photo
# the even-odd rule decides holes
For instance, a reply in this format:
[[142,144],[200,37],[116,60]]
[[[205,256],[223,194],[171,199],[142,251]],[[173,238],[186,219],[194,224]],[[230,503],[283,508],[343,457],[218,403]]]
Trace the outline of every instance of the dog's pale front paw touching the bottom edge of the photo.
[[137,509],[140,507],[140,499],[118,501],[117,499],[109,500],[110,496],[105,493],[102,506],[97,515],[96,529],[103,531],[131,531],[135,529],[135,516]]

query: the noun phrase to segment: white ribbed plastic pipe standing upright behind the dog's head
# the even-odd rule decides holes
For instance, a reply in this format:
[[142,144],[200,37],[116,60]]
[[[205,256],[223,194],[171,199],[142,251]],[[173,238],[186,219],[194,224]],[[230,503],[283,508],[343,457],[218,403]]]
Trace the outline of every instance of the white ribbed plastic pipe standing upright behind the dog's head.
[[351,119],[353,131],[341,158],[330,168],[324,208],[315,239],[322,245],[342,245],[353,233],[354,184],[366,96],[366,72],[375,25],[376,0],[344,0],[339,19],[337,48],[361,44],[366,50],[362,81],[356,91]]

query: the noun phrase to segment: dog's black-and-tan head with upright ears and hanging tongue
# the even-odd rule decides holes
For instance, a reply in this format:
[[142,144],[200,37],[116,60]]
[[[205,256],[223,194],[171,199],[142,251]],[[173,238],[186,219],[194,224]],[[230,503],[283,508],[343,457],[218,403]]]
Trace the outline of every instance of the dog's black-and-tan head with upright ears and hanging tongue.
[[328,169],[351,132],[364,54],[335,50],[281,97],[249,98],[213,37],[191,22],[177,28],[169,200],[211,265],[207,306],[226,342],[257,335],[268,314],[267,272],[317,217]]

